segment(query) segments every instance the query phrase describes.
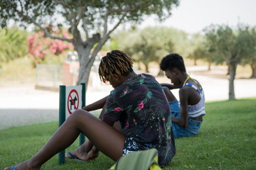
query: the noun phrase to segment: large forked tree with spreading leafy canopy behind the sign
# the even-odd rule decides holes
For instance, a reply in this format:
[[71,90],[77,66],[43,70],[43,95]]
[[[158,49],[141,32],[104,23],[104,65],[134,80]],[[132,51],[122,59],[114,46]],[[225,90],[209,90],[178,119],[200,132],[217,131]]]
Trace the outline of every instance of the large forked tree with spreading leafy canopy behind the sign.
[[[6,27],[11,19],[21,26],[32,23],[50,38],[73,43],[80,62],[80,84],[87,83],[97,53],[121,23],[140,22],[151,14],[164,20],[173,6],[178,6],[178,0],[0,0],[0,24]],[[73,38],[51,35],[45,26],[52,25],[68,26]]]

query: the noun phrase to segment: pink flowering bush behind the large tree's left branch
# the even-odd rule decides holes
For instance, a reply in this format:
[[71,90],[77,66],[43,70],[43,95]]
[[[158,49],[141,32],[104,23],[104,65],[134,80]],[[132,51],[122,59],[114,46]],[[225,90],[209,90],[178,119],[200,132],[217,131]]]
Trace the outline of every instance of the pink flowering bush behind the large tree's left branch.
[[[51,30],[50,32],[54,36],[70,38],[68,30]],[[46,62],[54,57],[58,58],[68,50],[73,50],[72,43],[45,37],[42,32],[33,33],[28,37],[28,54],[33,56],[36,64]]]

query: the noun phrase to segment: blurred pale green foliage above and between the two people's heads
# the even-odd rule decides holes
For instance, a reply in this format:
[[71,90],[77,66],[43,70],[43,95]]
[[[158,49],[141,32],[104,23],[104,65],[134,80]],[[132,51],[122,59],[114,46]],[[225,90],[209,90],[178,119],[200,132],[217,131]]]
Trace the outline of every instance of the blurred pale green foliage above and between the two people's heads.
[[[202,35],[193,35],[192,38],[190,38],[187,33],[175,28],[155,26],[139,30],[133,27],[129,30],[119,30],[117,33],[114,33],[110,38],[110,43],[106,45],[106,49],[122,49],[132,54],[132,52],[129,52],[129,50],[132,50],[132,47],[130,47],[132,45],[130,44],[138,43],[137,41],[142,39],[142,35],[146,35],[146,33],[143,33],[144,31],[149,34],[147,40],[149,40],[150,43],[154,42],[156,47],[159,47],[158,43],[160,43],[164,51],[168,50],[168,53],[176,52],[183,57],[187,57],[188,53],[193,51],[194,46],[199,44],[203,37]],[[168,46],[168,42],[171,43],[171,47]],[[159,55],[163,57],[165,54]]]

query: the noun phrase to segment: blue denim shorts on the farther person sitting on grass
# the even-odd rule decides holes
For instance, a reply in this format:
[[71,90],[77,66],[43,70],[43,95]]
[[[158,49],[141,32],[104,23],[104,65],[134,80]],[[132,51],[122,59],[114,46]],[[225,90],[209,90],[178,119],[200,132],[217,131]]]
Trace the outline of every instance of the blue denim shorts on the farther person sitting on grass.
[[[169,102],[171,116],[176,118],[180,118],[180,108],[178,106],[178,101]],[[198,134],[199,129],[201,127],[202,121],[193,120],[188,118],[188,126],[186,128],[181,128],[176,123],[172,122],[172,128],[174,130],[174,138],[178,137],[189,137]]]

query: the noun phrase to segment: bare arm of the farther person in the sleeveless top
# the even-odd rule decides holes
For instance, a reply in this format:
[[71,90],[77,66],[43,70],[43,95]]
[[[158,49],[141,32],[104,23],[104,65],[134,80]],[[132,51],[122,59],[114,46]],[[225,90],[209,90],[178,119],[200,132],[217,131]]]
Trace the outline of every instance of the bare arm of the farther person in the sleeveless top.
[[188,126],[188,91],[186,88],[182,88],[179,91],[180,96],[180,118],[175,118],[171,116],[171,121],[176,123],[178,126],[182,128],[186,128]]

